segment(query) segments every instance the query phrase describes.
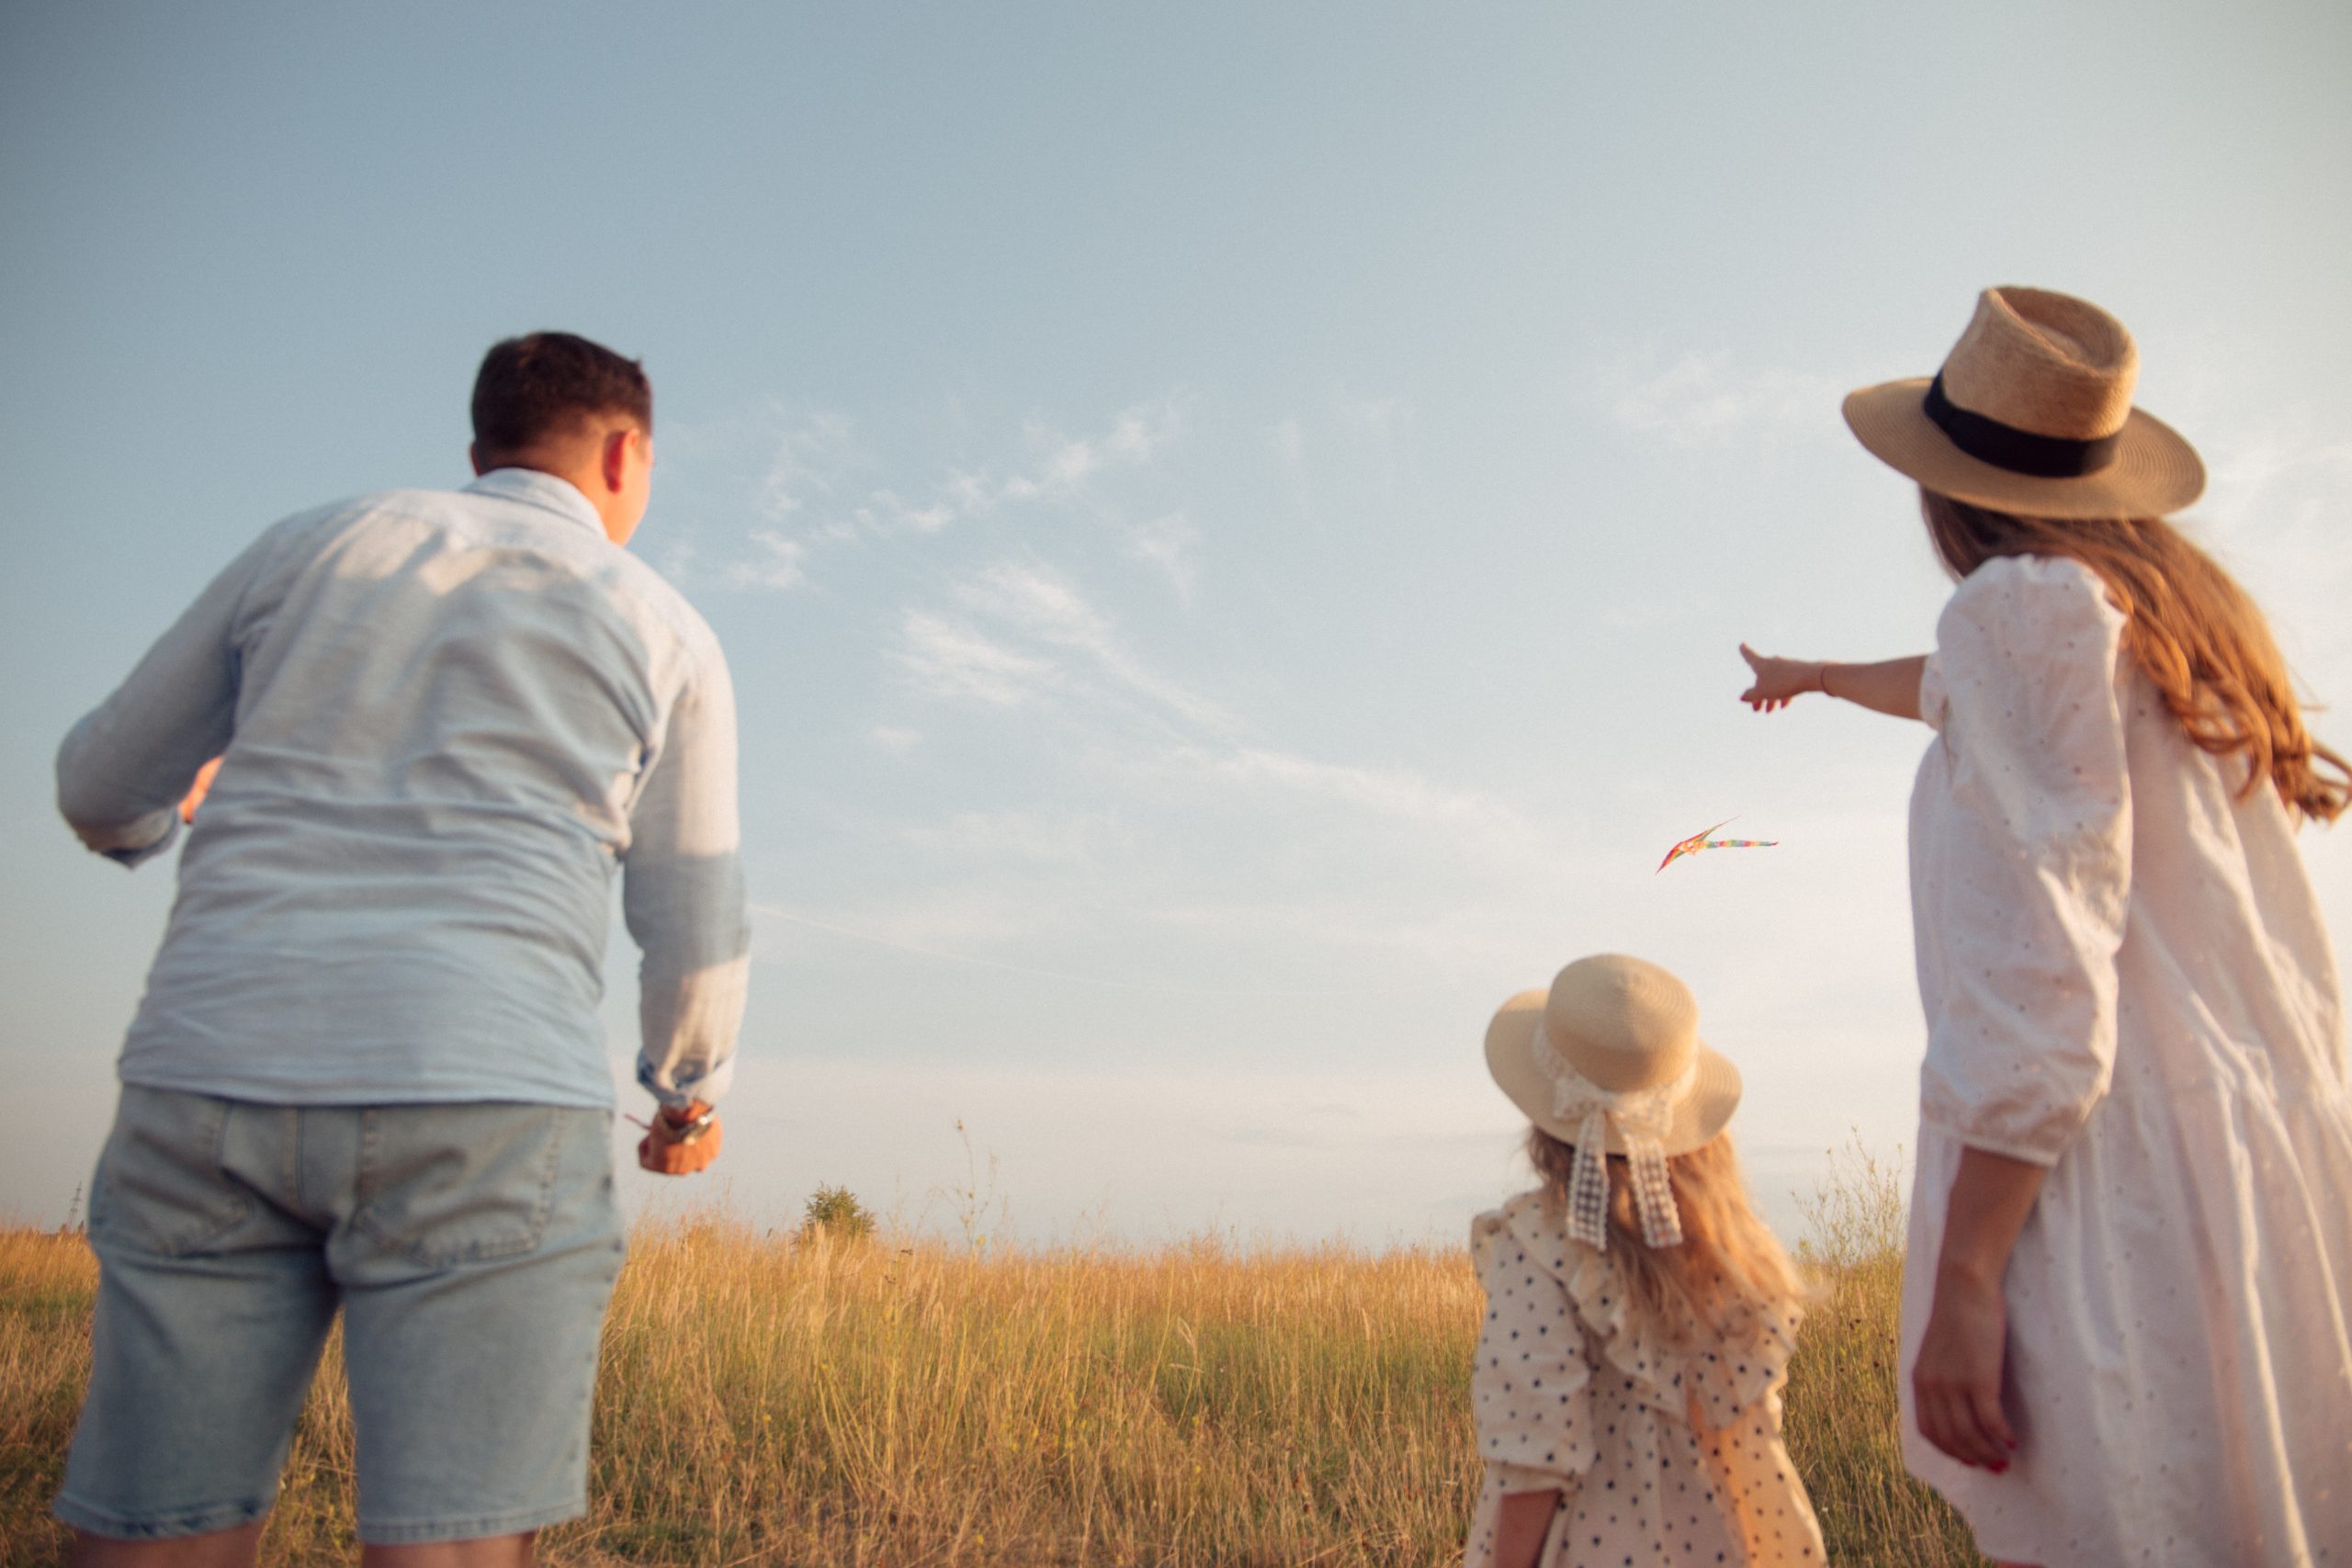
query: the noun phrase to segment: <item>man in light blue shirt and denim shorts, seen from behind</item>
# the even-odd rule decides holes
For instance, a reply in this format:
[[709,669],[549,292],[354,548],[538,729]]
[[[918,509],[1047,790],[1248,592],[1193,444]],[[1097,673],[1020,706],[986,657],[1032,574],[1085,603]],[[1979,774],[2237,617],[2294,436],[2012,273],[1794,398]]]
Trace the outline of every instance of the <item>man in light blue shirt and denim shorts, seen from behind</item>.
[[193,823],[92,1185],[78,1563],[252,1563],[339,1307],[365,1561],[529,1563],[583,1512],[621,1267],[614,870],[659,1100],[640,1164],[717,1154],[734,691],[623,550],[652,388],[539,331],[482,360],[473,430],[463,491],[266,531],[59,752],[89,849],[136,865]]

